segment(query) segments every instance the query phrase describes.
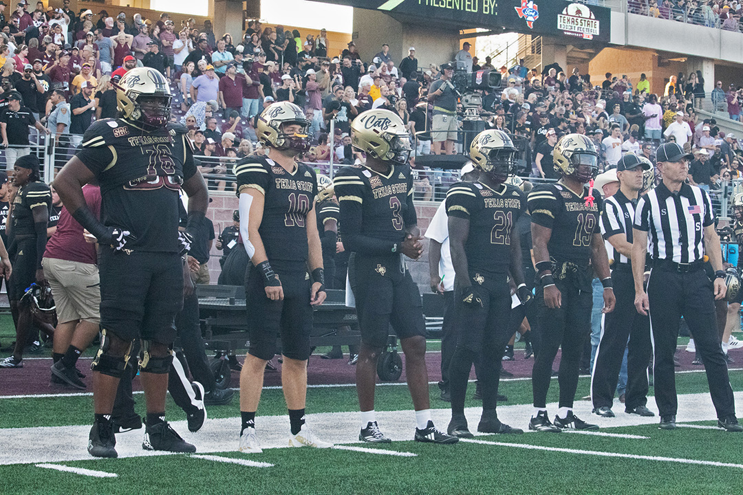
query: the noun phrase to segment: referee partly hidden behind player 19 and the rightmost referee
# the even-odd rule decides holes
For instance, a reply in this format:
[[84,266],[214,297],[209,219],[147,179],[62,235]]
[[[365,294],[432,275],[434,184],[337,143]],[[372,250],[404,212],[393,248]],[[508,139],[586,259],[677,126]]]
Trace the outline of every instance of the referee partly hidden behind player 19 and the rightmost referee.
[[[604,318],[604,328],[596,351],[594,372],[591,377],[593,412],[613,418],[611,404],[622,366],[625,347],[627,353],[627,388],[624,411],[640,416],[655,416],[646,407],[648,393],[647,369],[650,364],[650,318],[635,309],[635,285],[632,281],[632,220],[635,204],[643,188],[644,171],[650,163],[628,153],[617,163],[619,191],[603,202],[601,233],[611,263],[611,281],[617,305]],[[643,263],[644,270],[644,263]],[[629,338],[629,344],[627,343]]]

